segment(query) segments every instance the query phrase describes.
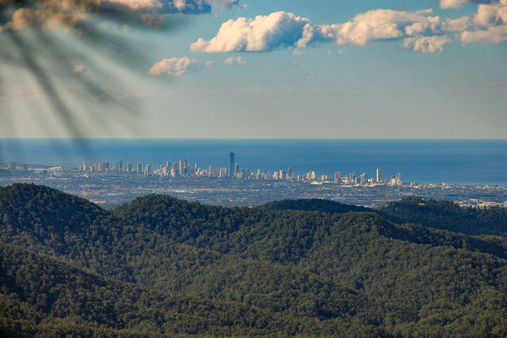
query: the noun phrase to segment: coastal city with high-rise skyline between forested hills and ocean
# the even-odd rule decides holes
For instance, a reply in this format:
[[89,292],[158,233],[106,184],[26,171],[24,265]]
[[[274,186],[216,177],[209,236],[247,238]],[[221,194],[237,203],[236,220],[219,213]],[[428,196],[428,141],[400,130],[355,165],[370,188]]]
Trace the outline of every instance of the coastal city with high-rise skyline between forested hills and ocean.
[[223,206],[256,206],[280,199],[330,199],[344,204],[381,206],[404,196],[456,201],[463,206],[507,206],[507,187],[404,183],[401,173],[382,176],[382,169],[332,177],[315,170],[296,174],[292,168],[274,172],[242,168],[228,157],[226,167],[199,168],[185,159],[159,165],[94,162],[79,168],[0,163],[0,185],[13,182],[44,184],[77,194],[106,207],[146,194],[170,194],[180,199]]

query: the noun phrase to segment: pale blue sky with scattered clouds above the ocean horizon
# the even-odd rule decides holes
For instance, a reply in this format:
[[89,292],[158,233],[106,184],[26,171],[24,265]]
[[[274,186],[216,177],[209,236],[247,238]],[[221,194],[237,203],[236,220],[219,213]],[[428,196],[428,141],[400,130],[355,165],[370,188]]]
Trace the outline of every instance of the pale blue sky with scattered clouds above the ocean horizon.
[[1,5],[0,137],[507,136],[507,0],[37,1]]

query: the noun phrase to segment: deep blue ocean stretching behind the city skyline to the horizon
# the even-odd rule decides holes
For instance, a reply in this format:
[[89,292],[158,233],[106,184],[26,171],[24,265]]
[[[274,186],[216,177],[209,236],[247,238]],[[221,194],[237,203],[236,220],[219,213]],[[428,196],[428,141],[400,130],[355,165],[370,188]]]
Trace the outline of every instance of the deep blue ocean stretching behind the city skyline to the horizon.
[[234,151],[252,171],[310,170],[334,177],[402,173],[403,182],[507,186],[507,140],[458,139],[0,139],[0,162],[79,167],[83,162],[160,165],[186,159],[227,167]]

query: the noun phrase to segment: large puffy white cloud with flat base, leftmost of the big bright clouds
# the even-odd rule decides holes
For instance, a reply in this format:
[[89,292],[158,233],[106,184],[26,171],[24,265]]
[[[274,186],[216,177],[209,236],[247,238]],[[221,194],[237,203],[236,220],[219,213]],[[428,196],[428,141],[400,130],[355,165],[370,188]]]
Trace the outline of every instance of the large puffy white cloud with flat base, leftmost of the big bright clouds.
[[286,12],[228,20],[213,39],[206,41],[201,38],[191,44],[190,49],[205,53],[272,51],[294,46],[301,39],[307,23],[310,23],[307,18]]

